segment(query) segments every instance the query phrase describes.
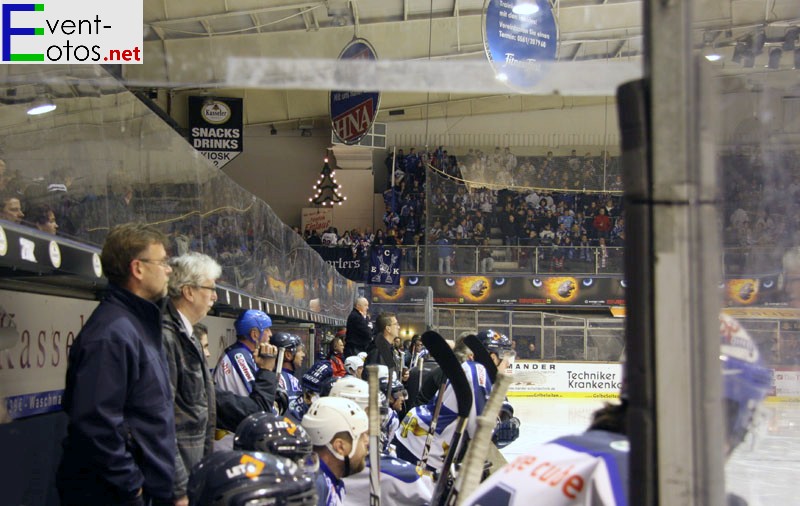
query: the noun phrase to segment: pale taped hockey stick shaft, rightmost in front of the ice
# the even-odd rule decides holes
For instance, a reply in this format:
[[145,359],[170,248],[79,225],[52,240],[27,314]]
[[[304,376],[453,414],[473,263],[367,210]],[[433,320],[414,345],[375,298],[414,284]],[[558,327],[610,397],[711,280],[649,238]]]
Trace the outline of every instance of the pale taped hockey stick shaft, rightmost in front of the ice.
[[500,407],[503,405],[509,385],[511,385],[511,377],[502,373],[497,375],[492,384],[492,394],[483,407],[483,413],[478,417],[478,428],[467,448],[464,465],[445,502],[448,506],[459,504],[459,498],[468,498],[480,484],[483,463],[491,446],[494,446],[492,432],[497,425],[497,415],[500,414]]

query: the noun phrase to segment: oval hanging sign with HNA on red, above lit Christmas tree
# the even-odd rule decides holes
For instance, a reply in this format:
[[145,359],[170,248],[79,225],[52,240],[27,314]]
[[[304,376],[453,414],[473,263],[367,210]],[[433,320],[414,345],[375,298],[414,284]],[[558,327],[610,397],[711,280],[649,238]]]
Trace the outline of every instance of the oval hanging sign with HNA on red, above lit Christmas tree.
[[[378,56],[366,39],[353,39],[339,54],[339,59],[377,60]],[[358,144],[378,115],[380,92],[331,91],[328,98],[333,134],[344,144]]]

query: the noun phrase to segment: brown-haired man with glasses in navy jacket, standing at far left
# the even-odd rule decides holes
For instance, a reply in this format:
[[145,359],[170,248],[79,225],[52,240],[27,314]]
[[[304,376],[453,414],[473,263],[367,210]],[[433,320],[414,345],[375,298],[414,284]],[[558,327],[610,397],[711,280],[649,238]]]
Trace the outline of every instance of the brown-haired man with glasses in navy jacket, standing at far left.
[[61,505],[173,504],[175,415],[156,302],[172,269],[166,237],[148,225],[111,229],[110,282],[69,351],[69,417],[58,472]]

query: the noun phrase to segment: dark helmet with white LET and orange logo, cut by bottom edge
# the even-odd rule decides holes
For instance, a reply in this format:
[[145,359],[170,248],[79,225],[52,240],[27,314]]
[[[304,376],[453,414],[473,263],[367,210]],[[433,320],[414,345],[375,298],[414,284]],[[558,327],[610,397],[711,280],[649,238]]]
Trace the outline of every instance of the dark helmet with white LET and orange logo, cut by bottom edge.
[[192,506],[317,504],[314,477],[284,458],[225,450],[204,458],[189,478]]

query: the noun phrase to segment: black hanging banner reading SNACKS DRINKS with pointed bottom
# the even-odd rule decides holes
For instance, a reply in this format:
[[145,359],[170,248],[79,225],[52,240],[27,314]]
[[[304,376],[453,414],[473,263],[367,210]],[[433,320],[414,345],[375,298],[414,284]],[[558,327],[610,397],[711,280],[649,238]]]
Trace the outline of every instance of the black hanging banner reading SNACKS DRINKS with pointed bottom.
[[189,97],[192,146],[218,169],[243,149],[241,98]]

